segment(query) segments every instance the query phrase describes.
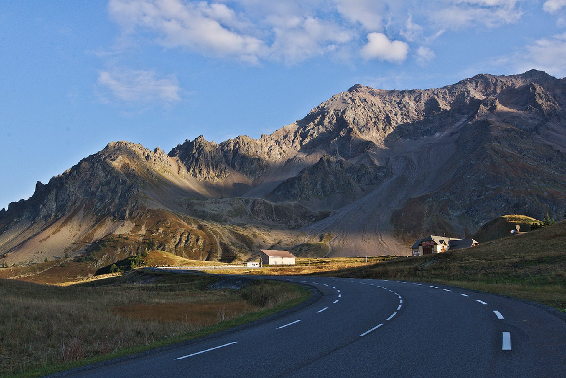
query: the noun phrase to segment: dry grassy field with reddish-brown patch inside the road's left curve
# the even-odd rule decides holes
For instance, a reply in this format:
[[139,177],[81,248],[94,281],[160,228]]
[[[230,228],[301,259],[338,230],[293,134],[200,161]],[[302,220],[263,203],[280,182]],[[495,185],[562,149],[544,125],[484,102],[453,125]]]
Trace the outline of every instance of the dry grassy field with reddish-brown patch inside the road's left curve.
[[0,375],[41,376],[201,337],[311,295],[270,281],[209,290],[220,279],[140,270],[66,287],[0,279]]

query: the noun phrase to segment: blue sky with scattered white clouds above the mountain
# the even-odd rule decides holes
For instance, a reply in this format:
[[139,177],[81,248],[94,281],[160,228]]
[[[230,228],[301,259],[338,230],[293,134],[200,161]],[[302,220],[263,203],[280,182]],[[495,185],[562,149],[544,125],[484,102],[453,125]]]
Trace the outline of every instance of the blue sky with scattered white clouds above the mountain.
[[110,142],[259,138],[355,83],[566,76],[566,0],[0,3],[0,208]]

